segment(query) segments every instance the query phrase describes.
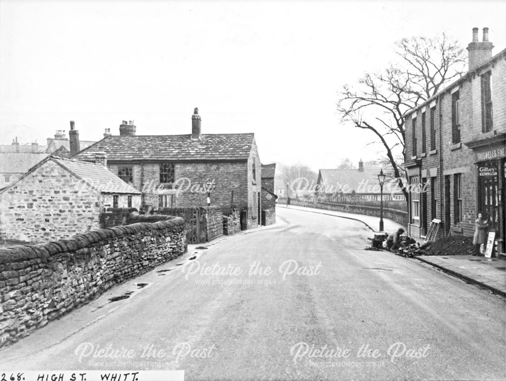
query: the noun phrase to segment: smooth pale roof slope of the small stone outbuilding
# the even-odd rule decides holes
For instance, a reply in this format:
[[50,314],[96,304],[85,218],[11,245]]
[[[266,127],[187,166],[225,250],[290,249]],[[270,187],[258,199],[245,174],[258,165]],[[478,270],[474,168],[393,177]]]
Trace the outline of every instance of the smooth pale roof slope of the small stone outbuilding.
[[141,194],[141,192],[126,184],[105,166],[54,156],[51,156],[51,160],[57,162],[79,179],[84,180],[102,193]]

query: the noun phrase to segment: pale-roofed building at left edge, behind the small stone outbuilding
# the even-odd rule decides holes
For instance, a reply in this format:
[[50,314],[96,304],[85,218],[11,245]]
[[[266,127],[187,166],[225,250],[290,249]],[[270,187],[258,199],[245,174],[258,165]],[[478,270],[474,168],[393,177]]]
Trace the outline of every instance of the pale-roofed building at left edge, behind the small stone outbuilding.
[[48,153],[0,152],[0,189],[14,183]]

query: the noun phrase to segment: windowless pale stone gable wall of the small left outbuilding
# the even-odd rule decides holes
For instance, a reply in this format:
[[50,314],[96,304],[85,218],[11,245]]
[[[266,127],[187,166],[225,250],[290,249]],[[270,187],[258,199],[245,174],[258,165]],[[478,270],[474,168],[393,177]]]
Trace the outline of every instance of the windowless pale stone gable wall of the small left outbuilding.
[[0,240],[46,242],[100,228],[100,192],[49,160],[0,193]]

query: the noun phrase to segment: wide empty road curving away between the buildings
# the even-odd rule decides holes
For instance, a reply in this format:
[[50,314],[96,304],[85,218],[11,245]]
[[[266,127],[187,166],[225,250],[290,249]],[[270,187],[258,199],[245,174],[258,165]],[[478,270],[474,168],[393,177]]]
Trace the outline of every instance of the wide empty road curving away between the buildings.
[[371,233],[360,222],[285,208],[277,219],[191,246],[0,351],[0,365],[184,369],[206,380],[504,380],[503,298],[363,250]]

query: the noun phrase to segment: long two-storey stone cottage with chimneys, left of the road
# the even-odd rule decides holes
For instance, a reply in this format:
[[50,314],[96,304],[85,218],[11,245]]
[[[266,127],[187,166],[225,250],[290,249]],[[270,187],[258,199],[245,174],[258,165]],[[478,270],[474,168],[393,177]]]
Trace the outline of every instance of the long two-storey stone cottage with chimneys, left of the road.
[[255,135],[201,134],[198,109],[191,119],[187,135],[136,135],[136,126],[124,120],[119,136],[73,157],[94,161],[97,152],[106,152],[109,170],[142,192],[144,207],[236,205],[247,213],[247,228],[260,225],[262,168]]

